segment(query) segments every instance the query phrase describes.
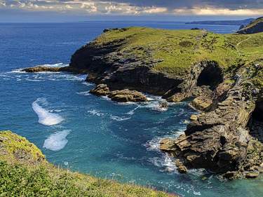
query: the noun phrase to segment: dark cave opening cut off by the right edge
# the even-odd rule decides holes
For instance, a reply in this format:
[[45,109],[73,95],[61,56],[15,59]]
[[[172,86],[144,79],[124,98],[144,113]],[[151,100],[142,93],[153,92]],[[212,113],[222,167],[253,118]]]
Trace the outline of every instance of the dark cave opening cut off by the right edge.
[[256,102],[248,128],[250,128],[250,135],[263,143],[263,98]]

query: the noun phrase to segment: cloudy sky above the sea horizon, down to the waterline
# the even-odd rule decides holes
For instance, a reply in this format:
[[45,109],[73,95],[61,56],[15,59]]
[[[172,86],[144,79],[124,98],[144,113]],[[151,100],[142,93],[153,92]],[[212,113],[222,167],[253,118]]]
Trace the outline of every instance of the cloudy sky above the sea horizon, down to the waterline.
[[238,20],[263,16],[263,0],[0,0],[0,22]]

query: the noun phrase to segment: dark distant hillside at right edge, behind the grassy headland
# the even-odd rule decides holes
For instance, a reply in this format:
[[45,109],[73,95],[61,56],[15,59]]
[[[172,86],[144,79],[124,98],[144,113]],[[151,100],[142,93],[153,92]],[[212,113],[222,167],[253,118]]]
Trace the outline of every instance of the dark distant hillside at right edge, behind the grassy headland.
[[259,32],[263,32],[263,17],[257,18],[256,20],[250,22],[250,24],[238,30],[237,33],[238,34],[256,34]]

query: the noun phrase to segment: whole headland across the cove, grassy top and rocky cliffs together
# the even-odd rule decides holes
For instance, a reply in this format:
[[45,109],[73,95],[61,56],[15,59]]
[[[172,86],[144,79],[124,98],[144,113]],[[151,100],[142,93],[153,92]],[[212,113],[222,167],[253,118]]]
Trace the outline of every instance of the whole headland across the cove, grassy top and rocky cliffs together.
[[168,102],[192,98],[200,113],[160,149],[175,157],[179,172],[205,168],[227,179],[254,178],[263,172],[262,51],[263,33],[104,29],[63,70],[88,74],[97,84],[91,93],[119,102],[147,101],[139,92]]

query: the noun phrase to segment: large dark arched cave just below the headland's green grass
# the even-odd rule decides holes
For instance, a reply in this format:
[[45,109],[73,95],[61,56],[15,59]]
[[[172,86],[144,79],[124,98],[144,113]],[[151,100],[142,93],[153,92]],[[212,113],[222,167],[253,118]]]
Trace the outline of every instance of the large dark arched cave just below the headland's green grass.
[[205,67],[197,79],[197,86],[208,86],[210,90],[215,90],[224,81],[222,69],[215,62],[210,62]]

